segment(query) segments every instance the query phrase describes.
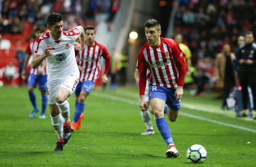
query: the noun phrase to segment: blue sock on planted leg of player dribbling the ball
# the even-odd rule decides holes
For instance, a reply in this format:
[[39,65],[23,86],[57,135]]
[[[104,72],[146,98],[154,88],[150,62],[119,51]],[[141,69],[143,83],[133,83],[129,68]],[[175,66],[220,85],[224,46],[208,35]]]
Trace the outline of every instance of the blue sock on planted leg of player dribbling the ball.
[[169,144],[174,144],[172,137],[171,137],[171,131],[170,128],[165,120],[165,118],[159,118],[156,120],[156,126],[158,127],[159,132],[162,135],[162,138],[164,138],[166,144],[169,146]]

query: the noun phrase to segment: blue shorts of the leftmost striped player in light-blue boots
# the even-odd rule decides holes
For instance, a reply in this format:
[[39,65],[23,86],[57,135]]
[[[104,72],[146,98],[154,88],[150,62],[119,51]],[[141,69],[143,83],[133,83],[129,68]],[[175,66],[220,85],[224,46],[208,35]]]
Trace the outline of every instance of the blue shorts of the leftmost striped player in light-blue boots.
[[39,87],[40,91],[46,91],[47,90],[47,75],[30,74],[30,76],[28,77],[27,86],[36,87],[37,83],[38,83],[38,87]]

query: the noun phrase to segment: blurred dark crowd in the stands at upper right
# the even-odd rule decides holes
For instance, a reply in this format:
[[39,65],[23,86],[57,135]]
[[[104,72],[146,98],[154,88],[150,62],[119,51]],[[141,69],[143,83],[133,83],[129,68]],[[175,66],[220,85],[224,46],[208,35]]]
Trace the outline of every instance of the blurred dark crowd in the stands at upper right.
[[215,58],[224,44],[231,50],[237,38],[247,30],[256,34],[256,2],[254,0],[181,0],[175,17],[175,33],[183,34],[183,42],[193,58]]

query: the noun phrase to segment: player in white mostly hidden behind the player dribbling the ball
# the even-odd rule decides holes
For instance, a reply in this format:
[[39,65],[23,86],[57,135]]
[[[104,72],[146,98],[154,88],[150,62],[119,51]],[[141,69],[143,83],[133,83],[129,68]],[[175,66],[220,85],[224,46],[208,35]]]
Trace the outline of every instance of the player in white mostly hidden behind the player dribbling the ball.
[[[147,74],[149,74],[149,70],[147,71]],[[139,70],[137,68],[134,71],[134,78],[135,78],[135,81],[136,81],[136,85],[139,86]],[[147,129],[146,129],[145,132],[141,133],[141,135],[155,134],[154,128],[152,126],[151,116],[150,116],[150,113],[149,113],[148,93],[149,93],[149,87],[148,87],[148,81],[147,81],[144,97],[145,97],[145,101],[148,105],[146,106],[145,109],[140,110],[140,115],[142,116],[142,120],[143,120],[143,122],[145,122],[145,125],[146,125]],[[154,114],[152,110],[150,110],[150,112],[152,112],[152,114]]]

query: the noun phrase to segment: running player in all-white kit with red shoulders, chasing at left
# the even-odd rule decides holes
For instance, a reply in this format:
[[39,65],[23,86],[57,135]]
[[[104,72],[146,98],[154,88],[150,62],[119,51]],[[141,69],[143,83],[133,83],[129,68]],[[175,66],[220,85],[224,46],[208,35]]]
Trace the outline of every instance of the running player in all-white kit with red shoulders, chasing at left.
[[[47,59],[48,104],[52,126],[59,138],[54,151],[62,151],[71,136],[69,103],[66,99],[73,94],[79,82],[74,48],[84,49],[85,35],[81,26],[63,31],[63,17],[54,12],[47,18],[47,27],[50,31],[37,40],[32,68],[36,69]],[[74,43],[78,38],[81,45]]]

